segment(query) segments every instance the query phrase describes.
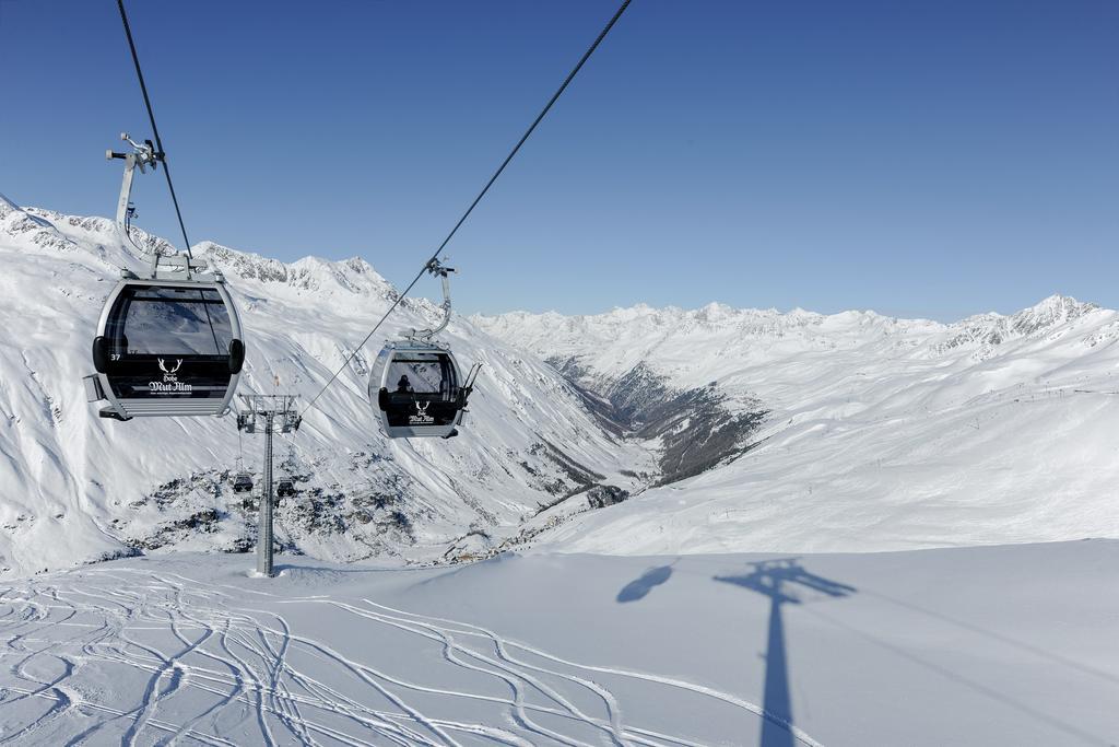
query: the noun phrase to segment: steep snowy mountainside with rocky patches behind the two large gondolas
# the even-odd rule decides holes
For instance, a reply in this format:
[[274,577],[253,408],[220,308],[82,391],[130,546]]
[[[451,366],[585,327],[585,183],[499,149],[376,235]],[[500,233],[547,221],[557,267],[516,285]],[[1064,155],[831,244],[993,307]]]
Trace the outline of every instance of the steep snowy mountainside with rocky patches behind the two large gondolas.
[[[139,233],[139,232],[138,232]],[[145,251],[161,243],[141,234]],[[365,337],[395,290],[361,260],[284,264],[211,243],[246,326],[242,392],[294,390],[305,403]],[[0,200],[0,569],[27,573],[161,547],[245,550],[254,514],[234,497],[233,419],[96,417],[81,376],[101,305],[121,267],[142,270],[105,218],[17,208]],[[432,283],[432,292],[436,291]],[[406,300],[385,336],[436,319]],[[444,339],[466,366],[485,363],[462,436],[388,441],[355,368],[308,413],[294,451],[278,442],[300,494],[279,510],[285,547],[347,560],[439,558],[468,532],[471,547],[516,527],[540,505],[651,465],[620,443],[581,399],[533,356],[455,317]],[[370,342],[372,362],[384,337]],[[245,437],[258,473],[262,439]],[[454,550],[452,549],[453,553]]]

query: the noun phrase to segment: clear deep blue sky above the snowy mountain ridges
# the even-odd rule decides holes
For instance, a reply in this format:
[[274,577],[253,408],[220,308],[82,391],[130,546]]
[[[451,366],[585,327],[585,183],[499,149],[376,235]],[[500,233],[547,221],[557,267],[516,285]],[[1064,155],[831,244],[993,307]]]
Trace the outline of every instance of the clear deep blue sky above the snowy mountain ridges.
[[[129,2],[191,240],[397,283],[615,6]],[[0,192],[111,215],[115,2],[0,0]],[[470,312],[1119,307],[1119,2],[633,0],[448,254]]]

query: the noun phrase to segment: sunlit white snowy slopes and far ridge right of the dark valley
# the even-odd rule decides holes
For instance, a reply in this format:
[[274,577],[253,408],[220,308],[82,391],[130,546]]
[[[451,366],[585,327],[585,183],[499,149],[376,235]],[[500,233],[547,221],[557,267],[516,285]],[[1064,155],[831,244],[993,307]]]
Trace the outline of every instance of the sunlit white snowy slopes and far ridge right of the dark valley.
[[473,319],[572,380],[711,386],[764,423],[714,469],[564,524],[564,551],[867,551],[1119,535],[1119,315],[1052,297],[942,325],[615,309]]

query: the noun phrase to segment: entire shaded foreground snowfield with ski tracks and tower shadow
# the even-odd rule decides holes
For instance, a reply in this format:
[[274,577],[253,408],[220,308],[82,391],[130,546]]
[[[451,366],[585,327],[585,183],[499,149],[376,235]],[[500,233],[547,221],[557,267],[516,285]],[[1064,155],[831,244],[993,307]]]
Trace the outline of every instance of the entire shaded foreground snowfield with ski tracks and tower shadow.
[[122,745],[1113,745],[1119,542],[137,558],[0,594],[0,739]]

